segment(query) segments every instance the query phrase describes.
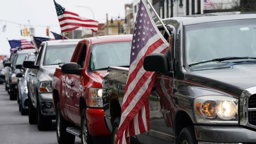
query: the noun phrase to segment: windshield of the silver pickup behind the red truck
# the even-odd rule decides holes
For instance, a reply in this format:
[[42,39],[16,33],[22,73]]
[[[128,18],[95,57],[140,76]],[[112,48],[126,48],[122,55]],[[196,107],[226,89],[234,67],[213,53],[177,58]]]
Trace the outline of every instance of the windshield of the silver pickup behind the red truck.
[[47,46],[43,65],[58,65],[70,62],[76,44]]

